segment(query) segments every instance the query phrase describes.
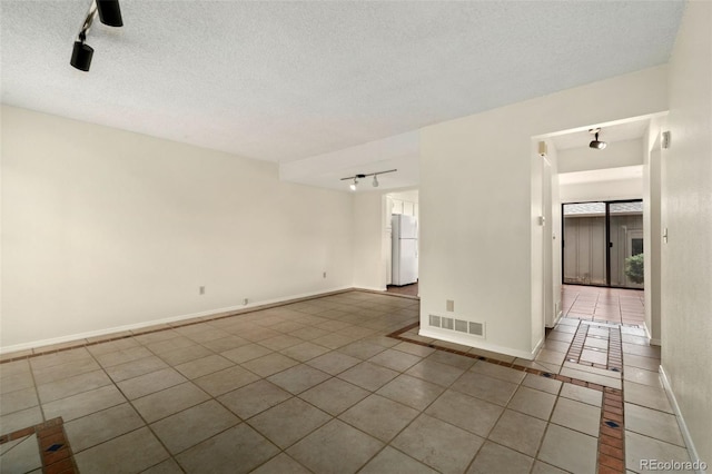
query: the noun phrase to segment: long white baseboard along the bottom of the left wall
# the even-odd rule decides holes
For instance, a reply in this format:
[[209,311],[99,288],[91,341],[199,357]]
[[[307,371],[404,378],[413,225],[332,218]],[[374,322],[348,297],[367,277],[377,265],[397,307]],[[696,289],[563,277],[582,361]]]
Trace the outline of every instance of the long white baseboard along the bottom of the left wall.
[[245,309],[255,310],[255,309],[257,309],[259,307],[263,307],[263,306],[269,306],[269,305],[275,305],[275,304],[285,304],[285,303],[295,302],[295,300],[303,299],[303,298],[310,298],[310,297],[320,296],[320,295],[328,295],[330,293],[344,292],[344,290],[347,290],[347,289],[356,289],[356,288],[353,288],[350,286],[343,286],[343,287],[325,289],[325,290],[319,290],[319,292],[310,292],[310,293],[303,293],[303,294],[299,294],[299,295],[285,296],[285,297],[281,297],[281,298],[266,299],[266,300],[261,300],[261,302],[250,303],[250,304],[247,304],[247,305],[235,305],[235,306],[229,306],[229,307],[225,307],[225,308],[214,308],[214,309],[207,309],[207,310],[204,310],[204,312],[191,313],[191,314],[187,314],[187,315],[171,316],[171,317],[161,318],[161,319],[151,319],[151,320],[148,320],[148,322],[127,324],[127,325],[123,325],[123,326],[108,327],[108,328],[98,329],[98,330],[89,330],[89,332],[79,333],[79,334],[70,334],[70,335],[67,335],[67,336],[52,337],[51,339],[31,340],[29,343],[21,343],[21,344],[14,344],[12,346],[0,347],[0,354],[8,354],[8,353],[14,353],[14,352],[18,352],[18,350],[33,349],[33,348],[37,348],[37,347],[43,347],[43,346],[51,346],[51,345],[56,345],[56,344],[70,343],[70,342],[73,342],[73,340],[87,339],[87,338],[90,338],[90,337],[98,337],[98,336],[106,336],[106,335],[109,335],[109,334],[121,333],[121,332],[126,332],[126,330],[142,329],[145,327],[158,326],[158,325],[161,325],[161,324],[169,324],[169,323],[177,323],[177,322],[180,322],[180,320],[194,319],[194,318],[199,318],[199,317],[205,317],[205,316],[218,316],[218,315],[220,315],[222,313],[231,313],[231,312],[245,310]]

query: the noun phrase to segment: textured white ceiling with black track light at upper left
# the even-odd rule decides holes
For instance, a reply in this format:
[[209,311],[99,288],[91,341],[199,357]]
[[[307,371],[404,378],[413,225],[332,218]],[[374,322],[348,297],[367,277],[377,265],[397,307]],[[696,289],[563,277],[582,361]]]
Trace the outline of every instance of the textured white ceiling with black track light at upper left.
[[[69,57],[88,6],[1,0],[3,103],[280,164],[339,160],[334,151],[664,63],[683,8],[121,0],[125,27],[89,32],[87,73]],[[405,159],[364,160],[390,158]]]

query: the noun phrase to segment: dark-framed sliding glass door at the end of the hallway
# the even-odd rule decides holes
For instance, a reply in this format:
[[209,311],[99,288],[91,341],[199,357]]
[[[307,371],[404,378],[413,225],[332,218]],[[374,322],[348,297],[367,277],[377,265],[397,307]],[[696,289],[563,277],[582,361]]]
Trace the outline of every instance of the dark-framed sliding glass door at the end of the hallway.
[[643,289],[643,201],[562,205],[562,283]]

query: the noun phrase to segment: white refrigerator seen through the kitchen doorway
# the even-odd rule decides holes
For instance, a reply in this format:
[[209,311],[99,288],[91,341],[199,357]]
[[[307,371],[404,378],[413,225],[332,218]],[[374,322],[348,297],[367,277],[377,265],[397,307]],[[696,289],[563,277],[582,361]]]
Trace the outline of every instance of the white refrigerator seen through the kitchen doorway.
[[402,286],[418,280],[418,224],[413,216],[394,214],[392,284]]

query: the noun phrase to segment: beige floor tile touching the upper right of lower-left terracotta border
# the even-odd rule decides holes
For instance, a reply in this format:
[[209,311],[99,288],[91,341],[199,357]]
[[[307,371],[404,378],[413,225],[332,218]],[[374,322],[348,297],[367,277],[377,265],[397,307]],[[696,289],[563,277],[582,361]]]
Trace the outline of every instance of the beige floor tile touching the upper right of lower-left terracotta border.
[[65,423],[65,432],[75,454],[145,426],[128,403]]

